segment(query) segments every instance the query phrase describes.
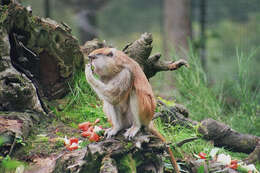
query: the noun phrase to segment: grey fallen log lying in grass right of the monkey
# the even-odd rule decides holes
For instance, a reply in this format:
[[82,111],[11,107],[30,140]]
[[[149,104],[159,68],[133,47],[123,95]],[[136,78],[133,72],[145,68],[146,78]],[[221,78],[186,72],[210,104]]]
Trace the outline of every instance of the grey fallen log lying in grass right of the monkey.
[[[210,118],[197,122],[181,114],[179,105],[168,107],[162,101],[159,104],[162,107],[160,117],[165,123],[183,124],[186,127],[198,125],[198,132],[202,138],[212,141],[215,146],[225,147],[234,152],[251,153],[245,159],[247,163],[260,161],[260,137],[239,133],[228,125]],[[183,106],[182,109],[184,109]]]

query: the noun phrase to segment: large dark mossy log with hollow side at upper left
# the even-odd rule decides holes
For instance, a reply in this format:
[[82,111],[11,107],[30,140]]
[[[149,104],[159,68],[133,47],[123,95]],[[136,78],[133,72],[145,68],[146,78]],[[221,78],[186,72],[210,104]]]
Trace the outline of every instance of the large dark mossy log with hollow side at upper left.
[[83,55],[71,29],[65,23],[33,16],[30,9],[16,3],[0,10],[13,65],[33,81],[41,98],[64,96],[73,73],[83,68]]

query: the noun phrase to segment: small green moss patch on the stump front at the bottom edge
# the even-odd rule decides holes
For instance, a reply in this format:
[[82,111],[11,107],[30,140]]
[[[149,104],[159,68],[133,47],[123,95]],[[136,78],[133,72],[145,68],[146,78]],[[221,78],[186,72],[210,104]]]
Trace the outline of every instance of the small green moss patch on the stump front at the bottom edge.
[[136,172],[136,162],[132,157],[132,154],[127,154],[123,156],[119,161],[118,161],[118,169],[119,172],[124,172],[124,173],[134,173]]

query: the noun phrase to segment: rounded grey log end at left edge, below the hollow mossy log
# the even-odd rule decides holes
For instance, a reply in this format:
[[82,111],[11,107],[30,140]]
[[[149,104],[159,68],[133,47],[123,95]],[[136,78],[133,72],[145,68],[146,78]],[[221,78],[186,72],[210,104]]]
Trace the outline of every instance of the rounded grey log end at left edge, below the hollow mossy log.
[[0,111],[43,112],[36,89],[31,81],[13,68],[8,56],[1,57]]

